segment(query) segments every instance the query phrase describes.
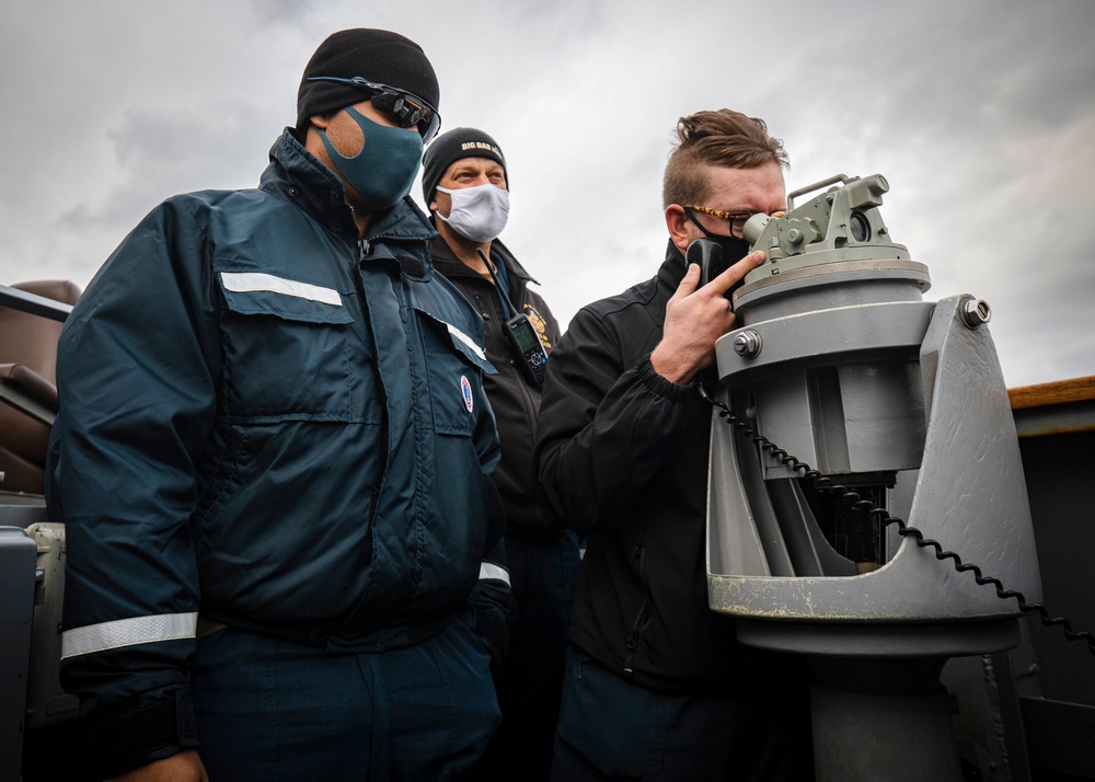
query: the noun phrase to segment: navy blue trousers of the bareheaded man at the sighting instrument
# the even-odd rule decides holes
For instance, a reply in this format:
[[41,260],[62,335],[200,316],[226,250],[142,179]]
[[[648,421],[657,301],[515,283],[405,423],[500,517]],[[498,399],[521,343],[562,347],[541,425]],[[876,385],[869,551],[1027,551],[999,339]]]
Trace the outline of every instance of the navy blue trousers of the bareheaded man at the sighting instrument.
[[567,649],[555,782],[812,780],[809,734],[796,737],[779,698],[673,695],[633,685]]

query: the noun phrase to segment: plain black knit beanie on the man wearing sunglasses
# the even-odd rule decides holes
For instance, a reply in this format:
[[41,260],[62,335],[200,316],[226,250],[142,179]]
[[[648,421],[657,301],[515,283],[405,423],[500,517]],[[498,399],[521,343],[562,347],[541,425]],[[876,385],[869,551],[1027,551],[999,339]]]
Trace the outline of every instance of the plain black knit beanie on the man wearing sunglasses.
[[297,127],[300,129],[308,127],[309,117],[345,108],[368,96],[354,87],[309,81],[313,76],[365,77],[412,92],[434,108],[440,108],[437,77],[422,47],[387,30],[343,30],[320,44],[308,60],[297,90]]

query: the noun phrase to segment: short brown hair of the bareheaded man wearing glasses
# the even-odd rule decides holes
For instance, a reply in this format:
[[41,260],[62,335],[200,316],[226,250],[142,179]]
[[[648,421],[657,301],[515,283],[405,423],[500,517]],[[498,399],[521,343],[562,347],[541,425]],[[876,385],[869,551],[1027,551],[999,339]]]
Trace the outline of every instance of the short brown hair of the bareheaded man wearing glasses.
[[662,207],[706,200],[711,195],[708,165],[727,169],[754,169],[769,162],[789,165],[783,141],[769,136],[763,119],[729,108],[681,117],[677,123],[677,139],[661,185]]

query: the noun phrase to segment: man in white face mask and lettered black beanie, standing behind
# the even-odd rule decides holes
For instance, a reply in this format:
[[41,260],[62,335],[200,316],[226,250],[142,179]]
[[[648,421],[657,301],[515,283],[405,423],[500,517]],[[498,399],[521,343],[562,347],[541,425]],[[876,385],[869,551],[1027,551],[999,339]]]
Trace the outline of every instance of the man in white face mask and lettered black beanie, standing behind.
[[[542,371],[560,331],[543,299],[529,289],[534,280],[497,239],[509,214],[508,186],[502,149],[482,130],[456,128],[426,149],[423,195],[441,234],[430,242],[430,256],[483,315],[484,347],[498,370],[485,388],[502,438],[494,478],[506,510],[515,605],[509,655],[495,677],[502,729],[472,775],[512,779],[520,769],[521,779],[546,780],[579,555],[577,537],[543,502],[533,468],[535,370]],[[515,332],[527,335],[525,343],[510,336]]]

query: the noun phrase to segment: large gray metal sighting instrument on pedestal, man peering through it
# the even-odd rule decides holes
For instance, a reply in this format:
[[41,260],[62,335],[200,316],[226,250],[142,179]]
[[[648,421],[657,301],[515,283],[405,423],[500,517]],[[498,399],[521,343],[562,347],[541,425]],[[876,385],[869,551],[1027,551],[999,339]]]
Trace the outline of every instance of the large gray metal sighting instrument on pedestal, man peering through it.
[[[734,295],[738,329],[715,345],[716,401],[1039,601],[988,304],[924,300],[927,267],[879,211],[888,189],[878,174],[839,175],[746,223],[768,260]],[[1017,645],[1016,602],[892,529],[877,530],[873,562],[851,557],[802,474],[713,418],[711,608],[737,618],[744,643],[807,657],[818,780],[959,779],[940,671]]]

